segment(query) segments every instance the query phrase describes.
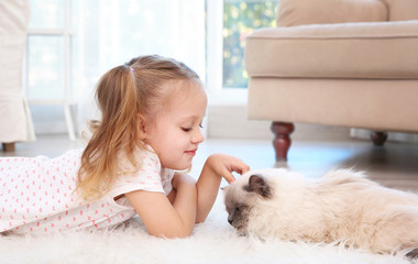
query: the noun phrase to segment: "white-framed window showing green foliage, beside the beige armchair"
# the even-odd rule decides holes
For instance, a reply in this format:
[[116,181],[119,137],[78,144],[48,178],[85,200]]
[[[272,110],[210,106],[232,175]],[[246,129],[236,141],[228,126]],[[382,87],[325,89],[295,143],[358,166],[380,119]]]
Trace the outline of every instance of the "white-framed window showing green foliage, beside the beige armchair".
[[211,105],[246,102],[245,36],[275,26],[278,0],[207,0],[207,86]]

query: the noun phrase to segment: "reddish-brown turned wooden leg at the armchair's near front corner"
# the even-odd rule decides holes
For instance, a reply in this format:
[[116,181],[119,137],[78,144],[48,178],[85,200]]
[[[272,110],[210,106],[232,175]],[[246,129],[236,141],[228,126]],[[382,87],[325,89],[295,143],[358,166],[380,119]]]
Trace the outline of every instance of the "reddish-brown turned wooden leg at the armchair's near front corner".
[[290,134],[294,132],[295,125],[293,123],[273,122],[272,132],[275,138],[273,146],[276,152],[276,161],[287,161],[287,152],[290,148]]

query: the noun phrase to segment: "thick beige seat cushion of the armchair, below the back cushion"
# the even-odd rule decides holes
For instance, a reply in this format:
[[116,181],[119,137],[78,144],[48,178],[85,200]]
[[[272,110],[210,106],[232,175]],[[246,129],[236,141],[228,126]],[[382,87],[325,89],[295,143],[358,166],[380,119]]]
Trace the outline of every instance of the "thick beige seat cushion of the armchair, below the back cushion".
[[279,26],[246,38],[252,77],[418,78],[418,20]]

